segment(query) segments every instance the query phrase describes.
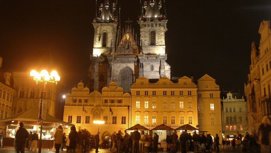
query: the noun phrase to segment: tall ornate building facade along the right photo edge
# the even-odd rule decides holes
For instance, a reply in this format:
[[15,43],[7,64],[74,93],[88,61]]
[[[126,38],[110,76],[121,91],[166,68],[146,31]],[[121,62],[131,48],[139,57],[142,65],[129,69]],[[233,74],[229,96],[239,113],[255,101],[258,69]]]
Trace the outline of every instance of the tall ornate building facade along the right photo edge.
[[248,103],[248,131],[257,132],[263,117],[271,119],[271,30],[270,21],[262,21],[258,33],[259,48],[251,45],[251,65],[245,95]]

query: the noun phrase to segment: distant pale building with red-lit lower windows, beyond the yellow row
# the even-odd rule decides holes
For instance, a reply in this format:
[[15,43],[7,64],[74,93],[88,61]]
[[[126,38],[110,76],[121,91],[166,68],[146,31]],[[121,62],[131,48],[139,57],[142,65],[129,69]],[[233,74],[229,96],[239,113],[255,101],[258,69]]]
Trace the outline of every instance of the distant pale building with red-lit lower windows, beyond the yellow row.
[[237,131],[245,135],[248,130],[248,111],[244,97],[229,92],[221,101],[223,102],[222,129],[225,138],[228,140],[235,138]]

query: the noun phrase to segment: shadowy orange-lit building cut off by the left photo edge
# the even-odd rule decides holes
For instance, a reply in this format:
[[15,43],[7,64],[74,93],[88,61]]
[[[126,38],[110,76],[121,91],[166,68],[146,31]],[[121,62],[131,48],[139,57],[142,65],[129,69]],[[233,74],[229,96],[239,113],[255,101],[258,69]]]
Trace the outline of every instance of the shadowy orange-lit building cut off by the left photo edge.
[[[0,57],[0,120],[11,116],[13,97],[16,90],[13,87],[11,73],[2,69],[3,58]],[[5,126],[0,124],[0,128]]]

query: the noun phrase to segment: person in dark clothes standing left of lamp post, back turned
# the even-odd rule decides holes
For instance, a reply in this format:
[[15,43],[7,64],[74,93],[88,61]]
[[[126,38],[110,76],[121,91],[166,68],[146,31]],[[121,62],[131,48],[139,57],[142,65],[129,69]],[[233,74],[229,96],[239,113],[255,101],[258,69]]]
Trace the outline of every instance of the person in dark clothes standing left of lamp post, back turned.
[[16,151],[17,153],[24,153],[24,145],[25,141],[28,138],[28,132],[24,128],[23,122],[20,122],[20,128],[17,130],[17,133],[15,135],[16,138]]

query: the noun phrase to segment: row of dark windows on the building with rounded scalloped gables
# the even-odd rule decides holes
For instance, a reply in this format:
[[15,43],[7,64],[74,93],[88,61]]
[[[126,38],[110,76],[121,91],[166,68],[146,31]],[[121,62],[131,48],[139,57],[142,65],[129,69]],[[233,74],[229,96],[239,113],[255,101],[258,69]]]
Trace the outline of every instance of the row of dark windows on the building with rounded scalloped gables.
[[[83,121],[82,116],[77,115],[76,123],[81,123],[82,121]],[[84,123],[90,124],[90,116],[85,116],[84,121],[85,121]],[[104,121],[104,124],[108,124],[108,116],[103,116],[103,121]],[[68,115],[68,123],[72,123],[72,122],[73,122],[73,116]],[[117,124],[117,116],[112,116],[111,124]],[[121,116],[121,124],[126,124],[126,116]]]

